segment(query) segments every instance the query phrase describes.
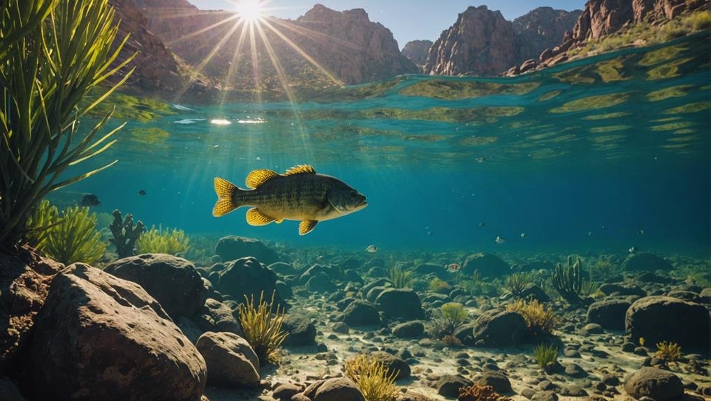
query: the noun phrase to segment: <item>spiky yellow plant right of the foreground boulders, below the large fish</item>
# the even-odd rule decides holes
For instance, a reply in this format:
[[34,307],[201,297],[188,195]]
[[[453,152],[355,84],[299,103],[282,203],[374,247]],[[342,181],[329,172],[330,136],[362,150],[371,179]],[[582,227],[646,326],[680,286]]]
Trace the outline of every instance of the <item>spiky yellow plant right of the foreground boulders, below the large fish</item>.
[[238,307],[240,326],[245,333],[245,340],[255,350],[260,363],[277,363],[279,348],[281,348],[287,333],[282,330],[284,323],[284,309],[274,303],[276,291],[272,292],[272,300],[264,300],[264,291],[260,293],[260,300],[255,307],[255,296],[251,299],[245,295],[245,302]]

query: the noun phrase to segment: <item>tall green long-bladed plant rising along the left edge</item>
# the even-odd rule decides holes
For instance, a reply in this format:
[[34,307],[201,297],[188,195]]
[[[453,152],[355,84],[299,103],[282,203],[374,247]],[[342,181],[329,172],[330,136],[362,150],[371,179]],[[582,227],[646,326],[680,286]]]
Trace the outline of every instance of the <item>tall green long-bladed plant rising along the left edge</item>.
[[[0,3],[0,245],[23,238],[28,218],[49,192],[115,163],[64,175],[70,165],[109,148],[122,128],[97,138],[109,111],[87,132],[79,129],[80,119],[131,75],[105,84],[133,59],[112,66],[126,41],[112,50],[117,31],[108,0]],[[101,94],[82,102],[91,91]]]

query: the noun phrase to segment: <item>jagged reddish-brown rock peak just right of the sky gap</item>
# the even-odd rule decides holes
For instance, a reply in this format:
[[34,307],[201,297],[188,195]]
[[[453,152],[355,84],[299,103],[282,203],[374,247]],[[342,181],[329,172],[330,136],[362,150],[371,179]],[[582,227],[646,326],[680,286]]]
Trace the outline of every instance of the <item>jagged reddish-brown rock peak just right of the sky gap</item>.
[[429,49],[431,75],[498,75],[518,61],[515,32],[499,11],[469,7]]

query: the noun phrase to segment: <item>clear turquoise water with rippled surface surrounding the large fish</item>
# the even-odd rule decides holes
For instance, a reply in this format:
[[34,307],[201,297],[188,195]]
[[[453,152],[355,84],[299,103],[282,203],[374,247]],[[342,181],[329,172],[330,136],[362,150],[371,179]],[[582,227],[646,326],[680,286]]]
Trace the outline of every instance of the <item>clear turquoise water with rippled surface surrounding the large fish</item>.
[[[129,120],[89,165],[119,163],[54,196],[89,192],[96,212],[117,208],[149,226],[294,246],[708,256],[708,40],[516,78],[397,77],[296,105],[183,99],[153,121]],[[213,177],[243,187],[255,168],[305,163],[369,206],[303,237],[294,221],[249,226],[246,209],[212,216]]]

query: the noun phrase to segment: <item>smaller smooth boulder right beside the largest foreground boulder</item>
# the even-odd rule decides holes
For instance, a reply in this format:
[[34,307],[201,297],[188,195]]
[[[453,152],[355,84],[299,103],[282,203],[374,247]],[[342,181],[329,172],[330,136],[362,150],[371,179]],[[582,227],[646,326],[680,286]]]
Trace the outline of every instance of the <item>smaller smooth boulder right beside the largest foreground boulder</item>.
[[260,360],[237,334],[208,331],[195,346],[208,365],[209,385],[242,388],[260,384]]

